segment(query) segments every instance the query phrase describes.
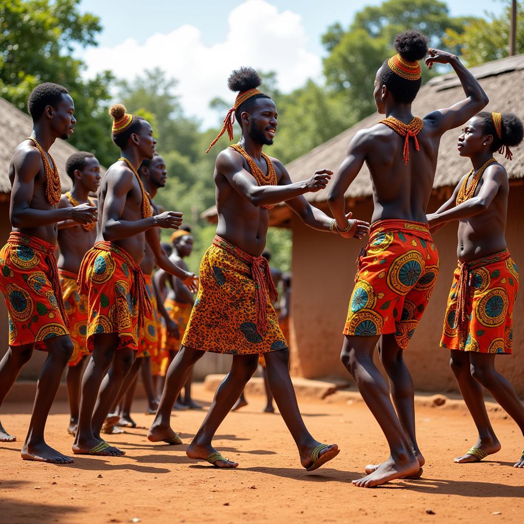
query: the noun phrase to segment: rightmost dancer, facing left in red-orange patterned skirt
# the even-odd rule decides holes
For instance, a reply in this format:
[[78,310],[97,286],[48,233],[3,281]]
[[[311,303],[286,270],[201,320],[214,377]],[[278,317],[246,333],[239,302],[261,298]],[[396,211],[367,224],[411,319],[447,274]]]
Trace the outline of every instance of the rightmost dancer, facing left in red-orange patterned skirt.
[[[466,123],[457,148],[471,159],[451,198],[428,215],[430,227],[459,220],[459,244],[440,345],[451,352],[451,369],[478,430],[478,440],[455,462],[478,462],[500,450],[484,405],[486,388],[524,434],[524,406],[495,369],[496,355],[512,352],[513,307],[519,288],[515,261],[506,246],[508,174],[494,158],[521,143],[524,130],[514,114],[481,112]],[[515,467],[524,467],[524,450]]]

